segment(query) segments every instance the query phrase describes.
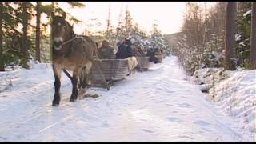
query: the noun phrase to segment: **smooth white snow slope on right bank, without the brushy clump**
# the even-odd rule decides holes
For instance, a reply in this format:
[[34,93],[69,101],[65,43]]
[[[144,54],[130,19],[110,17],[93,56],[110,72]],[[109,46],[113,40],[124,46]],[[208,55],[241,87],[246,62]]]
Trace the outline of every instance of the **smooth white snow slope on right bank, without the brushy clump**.
[[230,74],[214,89],[219,110],[238,120],[244,134],[256,137],[256,70]]

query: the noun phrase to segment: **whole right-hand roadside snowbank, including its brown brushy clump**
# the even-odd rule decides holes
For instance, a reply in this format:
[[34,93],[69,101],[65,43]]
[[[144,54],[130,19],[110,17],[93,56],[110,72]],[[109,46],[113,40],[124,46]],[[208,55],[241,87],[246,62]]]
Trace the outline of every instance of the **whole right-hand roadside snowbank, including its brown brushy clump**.
[[[242,134],[256,135],[256,70],[224,71],[218,68],[197,70],[194,82],[209,95],[223,114],[235,118]],[[206,85],[206,86],[205,86]]]

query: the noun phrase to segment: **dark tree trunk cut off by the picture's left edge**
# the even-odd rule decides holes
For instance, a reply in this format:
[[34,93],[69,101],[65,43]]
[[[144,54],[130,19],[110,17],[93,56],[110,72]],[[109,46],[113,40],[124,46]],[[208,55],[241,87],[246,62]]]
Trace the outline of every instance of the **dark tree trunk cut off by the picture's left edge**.
[[2,13],[3,13],[3,6],[2,6],[2,2],[0,2],[0,71],[5,71],[5,66],[3,62],[3,47],[2,47]]

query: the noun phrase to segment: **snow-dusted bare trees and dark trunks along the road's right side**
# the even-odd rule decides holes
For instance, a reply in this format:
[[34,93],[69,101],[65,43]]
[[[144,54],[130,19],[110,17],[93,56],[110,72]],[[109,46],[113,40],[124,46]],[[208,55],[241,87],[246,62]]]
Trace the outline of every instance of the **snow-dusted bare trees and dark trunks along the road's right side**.
[[[203,2],[202,2],[203,3]],[[188,2],[181,32],[168,35],[171,51],[189,74],[207,67],[255,69],[255,2]]]

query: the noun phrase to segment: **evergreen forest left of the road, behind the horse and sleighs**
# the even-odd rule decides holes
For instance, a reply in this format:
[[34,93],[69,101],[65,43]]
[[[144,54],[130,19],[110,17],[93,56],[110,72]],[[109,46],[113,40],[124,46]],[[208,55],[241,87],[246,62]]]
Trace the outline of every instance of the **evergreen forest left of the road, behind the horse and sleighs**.
[[[48,4],[50,3],[50,4]],[[58,2],[1,2],[0,10],[0,71],[6,66],[22,66],[28,69],[28,62],[50,62],[50,14],[52,11],[62,15],[65,10]],[[71,8],[86,9],[82,2],[66,2]],[[72,14],[67,13],[70,22],[81,23]],[[42,21],[43,19],[46,19]],[[101,43],[107,39],[112,46],[121,42],[124,38],[133,37],[143,49],[158,47],[170,54],[166,39],[158,29],[158,24],[152,25],[152,30],[147,32],[138,27],[134,22],[129,10],[120,14],[118,26],[112,26],[110,19],[106,19],[106,30],[92,31],[103,25],[98,18],[91,18],[85,23],[86,30],[82,34],[94,38],[95,42]],[[117,49],[117,48],[116,48]]]

